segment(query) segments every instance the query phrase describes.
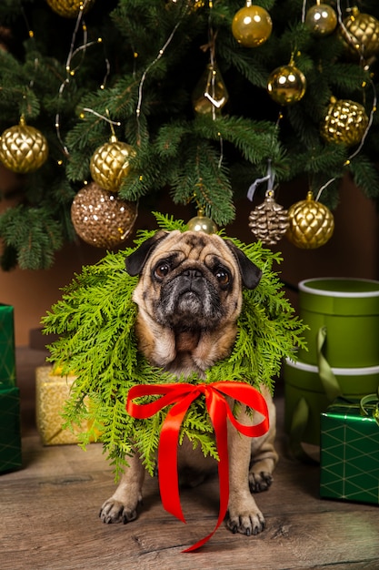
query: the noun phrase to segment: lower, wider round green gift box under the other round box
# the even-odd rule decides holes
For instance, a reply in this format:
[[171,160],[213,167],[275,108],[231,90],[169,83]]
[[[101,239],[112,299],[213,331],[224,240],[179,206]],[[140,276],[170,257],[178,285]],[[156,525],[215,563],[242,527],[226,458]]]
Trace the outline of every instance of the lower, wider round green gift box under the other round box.
[[[345,398],[362,398],[377,392],[379,365],[365,368],[332,368]],[[320,413],[331,404],[324,392],[317,366],[302,361],[284,361],[284,429],[291,433],[299,402],[307,409],[302,442],[320,444]]]

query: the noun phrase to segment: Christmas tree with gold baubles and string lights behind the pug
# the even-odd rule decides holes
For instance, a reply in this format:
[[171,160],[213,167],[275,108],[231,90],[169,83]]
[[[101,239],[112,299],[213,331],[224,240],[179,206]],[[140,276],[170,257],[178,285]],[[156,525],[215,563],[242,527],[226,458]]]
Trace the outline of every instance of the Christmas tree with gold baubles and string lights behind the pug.
[[[255,186],[255,237],[292,221],[322,245],[346,173],[379,196],[376,18],[375,0],[2,0],[3,269],[47,268],[77,234],[117,248],[162,194],[224,226]],[[275,202],[299,177],[311,243]]]

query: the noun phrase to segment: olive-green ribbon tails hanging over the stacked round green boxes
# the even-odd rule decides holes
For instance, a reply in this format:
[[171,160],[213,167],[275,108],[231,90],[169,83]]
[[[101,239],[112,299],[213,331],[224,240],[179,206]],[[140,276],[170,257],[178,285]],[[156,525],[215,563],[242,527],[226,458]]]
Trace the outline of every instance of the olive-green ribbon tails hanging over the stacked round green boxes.
[[[320,380],[323,384],[324,392],[329,402],[333,402],[338,396],[342,396],[342,390],[334,372],[323,354],[324,342],[326,340],[326,327],[321,327],[317,331],[317,366]],[[294,409],[290,428],[290,448],[296,459],[304,463],[317,463],[304,451],[302,446],[304,430],[309,419],[309,406],[305,398],[300,398]]]

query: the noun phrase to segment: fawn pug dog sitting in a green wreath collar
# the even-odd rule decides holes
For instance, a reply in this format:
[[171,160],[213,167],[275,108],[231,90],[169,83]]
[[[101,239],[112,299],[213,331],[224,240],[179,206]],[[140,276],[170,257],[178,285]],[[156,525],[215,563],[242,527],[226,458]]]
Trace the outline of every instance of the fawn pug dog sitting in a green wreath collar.
[[[231,241],[197,231],[159,231],[125,260],[129,275],[139,276],[134,291],[138,306],[136,336],[139,350],[154,366],[177,376],[196,372],[200,377],[233,349],[243,287],[254,289],[261,270]],[[229,422],[228,528],[258,534],[264,515],[252,492],[268,489],[278,455],[274,449],[275,408],[262,387],[269,410],[270,429],[249,438]],[[251,414],[239,406],[238,421],[252,424]],[[214,470],[211,457],[184,441],[178,449],[178,470],[194,473],[199,483]],[[142,501],[145,468],[137,453],[112,495],[101,507],[104,523],[129,523]]]

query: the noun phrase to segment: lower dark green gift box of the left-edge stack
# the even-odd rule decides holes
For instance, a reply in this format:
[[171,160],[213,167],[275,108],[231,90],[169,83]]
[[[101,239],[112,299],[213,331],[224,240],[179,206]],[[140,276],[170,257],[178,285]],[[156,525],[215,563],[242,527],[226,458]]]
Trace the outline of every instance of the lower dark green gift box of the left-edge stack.
[[16,386],[0,390],[0,472],[21,467],[20,393]]

